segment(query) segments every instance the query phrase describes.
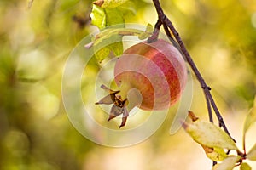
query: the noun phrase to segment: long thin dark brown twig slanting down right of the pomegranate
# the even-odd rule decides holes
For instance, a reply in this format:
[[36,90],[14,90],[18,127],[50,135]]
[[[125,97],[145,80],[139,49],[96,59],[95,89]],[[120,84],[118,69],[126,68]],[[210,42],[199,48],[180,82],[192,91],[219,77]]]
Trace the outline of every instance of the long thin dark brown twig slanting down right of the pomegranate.
[[[177,44],[179,46],[179,49],[182,51],[183,55],[185,56],[185,59],[187,60],[187,62],[190,65],[192,71],[194,71],[197,80],[201,84],[201,88],[203,89],[203,92],[204,92],[206,100],[207,100],[207,109],[208,109],[210,122],[213,122],[213,118],[212,118],[212,109],[213,109],[213,111],[215,112],[215,114],[218,118],[218,122],[219,122],[220,127],[223,127],[224,131],[230,135],[230,133],[229,133],[229,131],[228,131],[228,129],[227,129],[225,123],[224,123],[223,117],[221,116],[220,112],[218,111],[218,107],[215,104],[214,99],[212,98],[212,94],[210,92],[211,88],[209,86],[207,86],[207,83],[205,82],[204,78],[201,76],[200,71],[198,71],[198,69],[197,69],[193,59],[191,58],[187,48],[185,47],[181,37],[179,36],[175,27],[172,25],[171,20],[169,20],[166,17],[166,15],[164,14],[164,11],[160,6],[159,0],[153,0],[153,3],[154,3],[154,7],[157,11],[159,20],[164,25],[164,29],[166,31],[167,37],[170,39],[171,42],[173,40],[172,35],[175,37],[175,39],[177,41]],[[158,23],[159,23],[159,20],[158,20]],[[170,31],[172,31],[172,34],[169,32],[169,29],[170,29]]]

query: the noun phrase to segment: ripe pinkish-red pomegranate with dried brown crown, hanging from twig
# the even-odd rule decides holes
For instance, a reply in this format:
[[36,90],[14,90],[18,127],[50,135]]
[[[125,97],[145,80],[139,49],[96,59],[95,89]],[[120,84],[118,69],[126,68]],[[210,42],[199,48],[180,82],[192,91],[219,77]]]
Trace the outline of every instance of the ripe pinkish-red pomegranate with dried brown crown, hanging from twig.
[[135,106],[159,111],[175,104],[186,80],[185,61],[177,48],[162,39],[140,42],[126,49],[114,66],[114,81],[119,91],[102,86],[109,95],[96,104],[113,103],[108,120],[123,114],[122,127]]

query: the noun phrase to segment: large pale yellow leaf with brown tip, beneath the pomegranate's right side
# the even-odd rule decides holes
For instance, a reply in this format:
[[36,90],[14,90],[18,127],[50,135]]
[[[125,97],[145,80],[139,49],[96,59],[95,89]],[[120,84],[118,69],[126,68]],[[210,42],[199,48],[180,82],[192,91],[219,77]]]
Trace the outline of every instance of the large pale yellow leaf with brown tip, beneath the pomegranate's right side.
[[201,145],[210,148],[218,147],[229,150],[238,150],[233,139],[212,122],[201,122],[200,120],[192,123],[184,122],[183,127],[195,142]]

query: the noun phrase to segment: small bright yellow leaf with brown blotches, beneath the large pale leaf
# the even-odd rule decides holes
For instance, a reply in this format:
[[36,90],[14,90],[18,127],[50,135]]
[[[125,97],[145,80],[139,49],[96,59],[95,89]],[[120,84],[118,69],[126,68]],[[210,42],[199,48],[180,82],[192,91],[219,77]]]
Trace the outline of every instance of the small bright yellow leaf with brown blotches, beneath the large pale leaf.
[[202,147],[205,150],[207,157],[210,158],[212,161],[223,161],[227,157],[227,154],[224,152],[224,149],[222,148],[209,148],[203,145]]

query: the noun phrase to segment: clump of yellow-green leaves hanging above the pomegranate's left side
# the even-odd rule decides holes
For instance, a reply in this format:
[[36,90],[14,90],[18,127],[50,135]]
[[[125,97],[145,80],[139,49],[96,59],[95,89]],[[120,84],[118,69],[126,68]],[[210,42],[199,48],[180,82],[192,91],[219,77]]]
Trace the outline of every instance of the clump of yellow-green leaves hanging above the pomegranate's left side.
[[[131,2],[128,0],[97,0],[93,3],[92,12],[90,14],[91,24],[97,26],[102,32],[100,32],[90,44],[85,45],[86,48],[93,46],[95,51],[96,59],[102,62],[103,59],[108,57],[113,52],[113,55],[119,56],[123,53],[122,36],[127,35],[127,30],[119,30],[124,28],[125,19],[124,15],[131,12],[135,13]],[[106,29],[107,26],[112,26]],[[115,27],[116,29],[113,29]],[[138,32],[133,29],[128,31],[129,35],[137,34],[138,36],[143,33],[143,31]],[[136,33],[135,33],[136,32]],[[144,37],[149,36],[147,33]]]

